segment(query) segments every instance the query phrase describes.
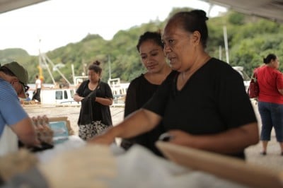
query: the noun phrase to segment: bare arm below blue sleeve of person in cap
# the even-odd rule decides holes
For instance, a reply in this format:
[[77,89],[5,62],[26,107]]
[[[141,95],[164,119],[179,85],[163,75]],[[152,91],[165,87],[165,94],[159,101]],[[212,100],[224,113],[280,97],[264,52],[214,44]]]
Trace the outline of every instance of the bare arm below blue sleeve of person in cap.
[[35,127],[29,117],[22,119],[20,122],[13,124],[11,129],[16,133],[18,139],[20,139],[26,146],[39,146]]

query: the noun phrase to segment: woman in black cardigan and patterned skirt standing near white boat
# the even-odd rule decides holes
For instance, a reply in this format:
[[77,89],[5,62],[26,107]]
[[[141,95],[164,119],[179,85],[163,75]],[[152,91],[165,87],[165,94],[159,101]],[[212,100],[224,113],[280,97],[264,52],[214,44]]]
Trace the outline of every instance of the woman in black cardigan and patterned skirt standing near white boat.
[[95,125],[112,126],[110,105],[113,102],[112,90],[108,83],[100,81],[102,69],[100,61],[88,66],[88,80],[83,81],[76,90],[74,100],[81,101],[79,114],[79,136],[81,139],[91,139],[96,134]]

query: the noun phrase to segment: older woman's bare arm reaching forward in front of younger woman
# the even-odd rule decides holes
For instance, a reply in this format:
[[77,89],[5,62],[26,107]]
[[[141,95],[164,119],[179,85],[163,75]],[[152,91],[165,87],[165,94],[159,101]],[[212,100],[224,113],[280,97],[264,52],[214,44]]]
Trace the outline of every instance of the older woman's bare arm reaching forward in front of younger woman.
[[108,129],[105,134],[96,136],[89,142],[110,144],[115,137],[127,139],[153,129],[160,121],[161,117],[158,114],[140,109],[129,114],[120,124]]

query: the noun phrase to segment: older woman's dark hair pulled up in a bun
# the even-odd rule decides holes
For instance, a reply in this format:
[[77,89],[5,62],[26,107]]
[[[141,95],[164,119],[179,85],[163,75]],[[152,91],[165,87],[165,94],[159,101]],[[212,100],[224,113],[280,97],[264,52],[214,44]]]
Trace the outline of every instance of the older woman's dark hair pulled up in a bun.
[[168,23],[178,22],[182,25],[183,29],[193,33],[195,31],[200,32],[200,42],[202,46],[207,47],[208,30],[207,30],[207,13],[202,10],[193,10],[187,12],[175,13]]

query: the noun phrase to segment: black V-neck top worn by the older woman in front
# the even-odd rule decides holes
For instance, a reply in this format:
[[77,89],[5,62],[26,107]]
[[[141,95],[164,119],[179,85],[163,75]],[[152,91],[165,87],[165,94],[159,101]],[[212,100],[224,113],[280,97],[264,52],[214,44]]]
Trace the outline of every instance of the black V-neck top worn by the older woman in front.
[[[144,105],[144,109],[163,117],[166,130],[217,134],[257,121],[243,78],[224,61],[210,59],[190,77],[182,90],[176,88],[178,74],[171,72]],[[233,156],[245,158],[244,151]]]

